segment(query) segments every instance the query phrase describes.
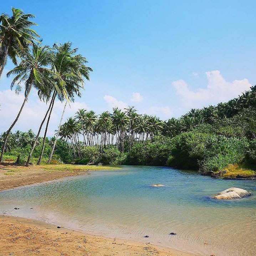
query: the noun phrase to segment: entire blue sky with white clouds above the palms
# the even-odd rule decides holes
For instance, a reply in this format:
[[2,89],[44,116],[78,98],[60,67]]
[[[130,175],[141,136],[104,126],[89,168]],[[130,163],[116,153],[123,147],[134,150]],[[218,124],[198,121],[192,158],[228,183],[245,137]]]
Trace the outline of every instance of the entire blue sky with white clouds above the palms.
[[[1,1],[34,14],[43,44],[72,42],[93,68],[79,108],[97,114],[134,106],[167,120],[191,108],[225,102],[256,83],[255,1]],[[10,61],[5,74],[13,68]],[[15,119],[24,99],[0,80],[0,133]],[[48,136],[58,127],[56,102]],[[37,132],[47,109],[32,91],[13,130]]]

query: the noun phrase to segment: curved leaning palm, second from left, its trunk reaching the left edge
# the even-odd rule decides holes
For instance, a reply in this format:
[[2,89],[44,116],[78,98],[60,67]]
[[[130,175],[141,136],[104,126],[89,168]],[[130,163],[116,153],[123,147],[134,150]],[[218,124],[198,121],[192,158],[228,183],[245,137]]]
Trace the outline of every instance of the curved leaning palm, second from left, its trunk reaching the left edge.
[[7,73],[7,77],[10,75],[15,75],[11,83],[11,88],[13,88],[15,83],[17,83],[17,93],[21,91],[21,82],[25,81],[25,98],[21,105],[20,111],[17,114],[17,117],[6,132],[6,138],[2,146],[0,162],[2,162],[4,155],[7,137],[11,132],[12,127],[14,127],[18,121],[32,87],[34,86],[36,89],[42,89],[42,91],[45,91],[43,88],[51,83],[49,77],[52,72],[47,68],[51,62],[51,59],[52,49],[49,46],[40,46],[39,44],[35,44],[33,42],[32,49],[22,55],[20,65],[16,66],[14,69]]

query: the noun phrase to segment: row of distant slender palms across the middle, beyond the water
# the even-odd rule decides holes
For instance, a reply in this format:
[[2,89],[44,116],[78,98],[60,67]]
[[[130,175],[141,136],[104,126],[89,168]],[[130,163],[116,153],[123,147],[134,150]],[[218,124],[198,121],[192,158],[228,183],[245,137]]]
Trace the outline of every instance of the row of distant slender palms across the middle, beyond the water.
[[79,109],[75,118],[68,118],[61,126],[60,135],[68,144],[71,155],[80,157],[81,143],[84,146],[97,145],[103,148],[111,145],[121,151],[129,150],[134,143],[152,140],[161,133],[164,123],[154,116],[139,115],[134,107],[126,111],[114,108],[113,113],[104,111],[99,116],[93,111]]

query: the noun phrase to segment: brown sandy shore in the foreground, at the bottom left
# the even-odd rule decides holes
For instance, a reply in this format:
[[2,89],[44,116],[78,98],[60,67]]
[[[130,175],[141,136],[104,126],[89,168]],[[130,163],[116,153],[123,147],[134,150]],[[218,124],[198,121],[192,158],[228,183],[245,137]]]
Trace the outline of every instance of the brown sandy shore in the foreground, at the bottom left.
[[0,255],[191,256],[149,243],[110,239],[42,221],[0,216]]

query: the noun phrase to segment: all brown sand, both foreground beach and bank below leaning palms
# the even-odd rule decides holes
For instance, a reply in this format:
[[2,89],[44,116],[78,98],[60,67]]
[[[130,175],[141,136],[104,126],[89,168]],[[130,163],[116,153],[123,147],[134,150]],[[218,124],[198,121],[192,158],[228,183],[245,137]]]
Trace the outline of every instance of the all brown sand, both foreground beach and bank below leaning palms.
[[[95,168],[97,169],[97,168]],[[55,166],[0,166],[0,190],[85,174],[92,170],[76,167],[60,170]],[[153,246],[147,242],[110,239],[57,228],[38,220],[0,216],[0,256],[18,255],[168,255],[191,256],[186,252]]]

